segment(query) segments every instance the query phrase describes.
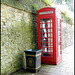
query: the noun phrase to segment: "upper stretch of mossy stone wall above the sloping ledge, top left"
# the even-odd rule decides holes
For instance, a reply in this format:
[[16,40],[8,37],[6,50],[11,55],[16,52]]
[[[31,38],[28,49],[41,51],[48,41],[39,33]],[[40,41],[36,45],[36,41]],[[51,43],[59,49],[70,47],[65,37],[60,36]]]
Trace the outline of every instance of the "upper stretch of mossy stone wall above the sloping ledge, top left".
[[44,0],[1,0],[1,3],[32,13],[37,13],[37,9],[47,6]]

